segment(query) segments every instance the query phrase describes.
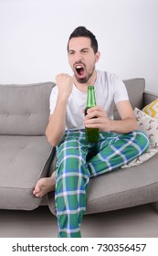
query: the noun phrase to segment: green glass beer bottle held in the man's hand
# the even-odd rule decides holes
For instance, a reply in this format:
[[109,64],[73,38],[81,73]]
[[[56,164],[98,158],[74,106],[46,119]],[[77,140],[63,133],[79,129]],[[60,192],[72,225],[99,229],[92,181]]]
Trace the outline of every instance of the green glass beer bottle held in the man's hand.
[[[88,98],[87,106],[85,109],[85,115],[87,114],[88,109],[96,106],[96,99],[94,93],[94,86],[88,86]],[[98,128],[87,128],[85,127],[86,140],[88,143],[97,143],[99,141],[100,132]]]

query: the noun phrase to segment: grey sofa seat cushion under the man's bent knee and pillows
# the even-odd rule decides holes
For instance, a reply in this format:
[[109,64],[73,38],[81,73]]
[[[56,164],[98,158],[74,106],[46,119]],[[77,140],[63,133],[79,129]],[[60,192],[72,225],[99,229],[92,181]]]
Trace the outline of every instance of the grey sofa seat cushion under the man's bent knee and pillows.
[[[90,179],[86,214],[131,208],[158,202],[158,155],[131,168],[118,169]],[[48,207],[56,215],[54,193]]]

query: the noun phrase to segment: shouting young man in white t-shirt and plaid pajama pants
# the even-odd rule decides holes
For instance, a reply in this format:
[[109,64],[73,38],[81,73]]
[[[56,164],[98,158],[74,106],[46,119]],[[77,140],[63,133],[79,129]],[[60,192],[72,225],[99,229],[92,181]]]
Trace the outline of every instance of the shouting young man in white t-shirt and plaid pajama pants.
[[[58,237],[62,238],[81,236],[90,177],[126,164],[142,155],[149,144],[146,135],[136,130],[125,85],[116,75],[97,70],[99,59],[96,37],[85,27],[77,27],[68,39],[68,63],[74,75],[59,74],[50,95],[46,134],[57,147],[58,164],[51,177],[37,182],[33,193],[42,197],[56,183]],[[97,106],[84,117],[89,85],[94,85]],[[114,103],[120,121],[113,120]],[[100,129],[99,143],[87,143],[85,126]]]

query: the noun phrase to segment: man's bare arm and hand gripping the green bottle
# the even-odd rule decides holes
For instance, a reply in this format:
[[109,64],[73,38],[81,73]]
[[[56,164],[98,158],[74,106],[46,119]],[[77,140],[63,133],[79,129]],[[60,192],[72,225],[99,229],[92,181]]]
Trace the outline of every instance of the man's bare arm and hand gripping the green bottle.
[[[107,113],[96,106],[89,109],[85,116],[85,126],[99,128],[102,132],[130,133],[137,129],[137,122],[134,117],[130,101],[120,101],[116,104],[121,120],[110,120]],[[97,118],[94,118],[97,117]]]

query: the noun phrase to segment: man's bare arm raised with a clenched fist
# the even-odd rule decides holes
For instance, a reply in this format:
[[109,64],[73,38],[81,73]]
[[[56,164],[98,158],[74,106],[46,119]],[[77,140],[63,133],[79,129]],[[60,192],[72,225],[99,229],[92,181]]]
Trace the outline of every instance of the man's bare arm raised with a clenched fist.
[[53,114],[47,123],[47,141],[52,146],[56,146],[61,140],[66,127],[66,111],[68,97],[72,91],[72,77],[67,74],[59,74],[56,77],[58,86],[58,100]]

